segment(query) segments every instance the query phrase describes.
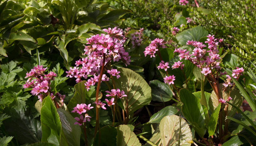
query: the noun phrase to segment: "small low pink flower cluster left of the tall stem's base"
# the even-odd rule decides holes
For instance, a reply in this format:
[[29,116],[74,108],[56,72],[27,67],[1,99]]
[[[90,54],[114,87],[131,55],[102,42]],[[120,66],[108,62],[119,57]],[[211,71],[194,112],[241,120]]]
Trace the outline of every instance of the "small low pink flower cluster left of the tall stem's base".
[[86,111],[89,111],[92,108],[93,107],[91,107],[91,104],[77,104],[76,107],[73,108],[74,110],[71,112],[78,113],[80,115],[80,118],[75,117],[75,120],[77,120],[77,122],[75,122],[74,124],[79,124],[79,126],[81,126],[86,121],[90,122],[91,117],[88,114],[86,114]]

